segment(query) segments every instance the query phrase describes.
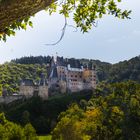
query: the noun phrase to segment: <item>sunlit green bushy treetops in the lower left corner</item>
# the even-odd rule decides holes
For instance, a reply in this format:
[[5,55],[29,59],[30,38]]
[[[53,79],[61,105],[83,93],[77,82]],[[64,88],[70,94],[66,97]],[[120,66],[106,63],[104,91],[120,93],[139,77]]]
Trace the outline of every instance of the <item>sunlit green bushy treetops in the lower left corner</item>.
[[37,140],[36,131],[31,124],[21,127],[6,120],[0,113],[0,139],[1,140]]

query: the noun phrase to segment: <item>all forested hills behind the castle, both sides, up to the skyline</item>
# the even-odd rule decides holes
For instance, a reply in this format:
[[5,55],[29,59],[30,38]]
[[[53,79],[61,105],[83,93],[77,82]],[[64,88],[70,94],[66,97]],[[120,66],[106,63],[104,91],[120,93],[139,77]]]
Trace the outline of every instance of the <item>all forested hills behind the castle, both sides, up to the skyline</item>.
[[[28,78],[38,81],[42,73],[47,76],[47,64],[50,63],[50,56],[22,57],[0,65],[0,93],[6,88],[9,93],[18,92],[22,79]],[[67,58],[64,59],[68,61]],[[121,82],[127,80],[140,81],[140,57],[128,61],[110,64],[99,60],[74,59],[70,62],[80,62],[83,65],[95,65],[98,82]]]

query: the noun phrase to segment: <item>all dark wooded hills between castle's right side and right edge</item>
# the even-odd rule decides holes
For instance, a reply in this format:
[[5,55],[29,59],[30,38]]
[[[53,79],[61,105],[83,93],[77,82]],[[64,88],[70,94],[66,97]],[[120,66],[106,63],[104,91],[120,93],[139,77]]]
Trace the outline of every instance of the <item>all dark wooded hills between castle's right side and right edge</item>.
[[99,82],[114,83],[128,80],[140,82],[140,56],[116,64],[99,60],[89,60],[89,63],[96,65]]

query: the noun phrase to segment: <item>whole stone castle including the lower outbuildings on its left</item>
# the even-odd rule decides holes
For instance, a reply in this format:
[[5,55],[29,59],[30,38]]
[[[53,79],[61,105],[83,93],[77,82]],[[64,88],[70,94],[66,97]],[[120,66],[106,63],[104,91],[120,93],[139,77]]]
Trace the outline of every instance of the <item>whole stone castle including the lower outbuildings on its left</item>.
[[95,66],[82,65],[78,60],[52,57],[50,63],[47,64],[46,71],[47,77],[42,74],[38,83],[23,79],[19,94],[12,95],[14,99],[40,96],[46,100],[57,93],[72,93],[96,88]]

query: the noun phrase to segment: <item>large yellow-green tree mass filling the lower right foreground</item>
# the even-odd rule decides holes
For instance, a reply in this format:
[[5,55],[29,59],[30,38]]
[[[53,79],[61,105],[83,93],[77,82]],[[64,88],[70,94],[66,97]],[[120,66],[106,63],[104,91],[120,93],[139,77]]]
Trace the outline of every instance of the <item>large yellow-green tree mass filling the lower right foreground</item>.
[[140,85],[102,85],[85,107],[73,104],[61,113],[53,140],[139,140]]

